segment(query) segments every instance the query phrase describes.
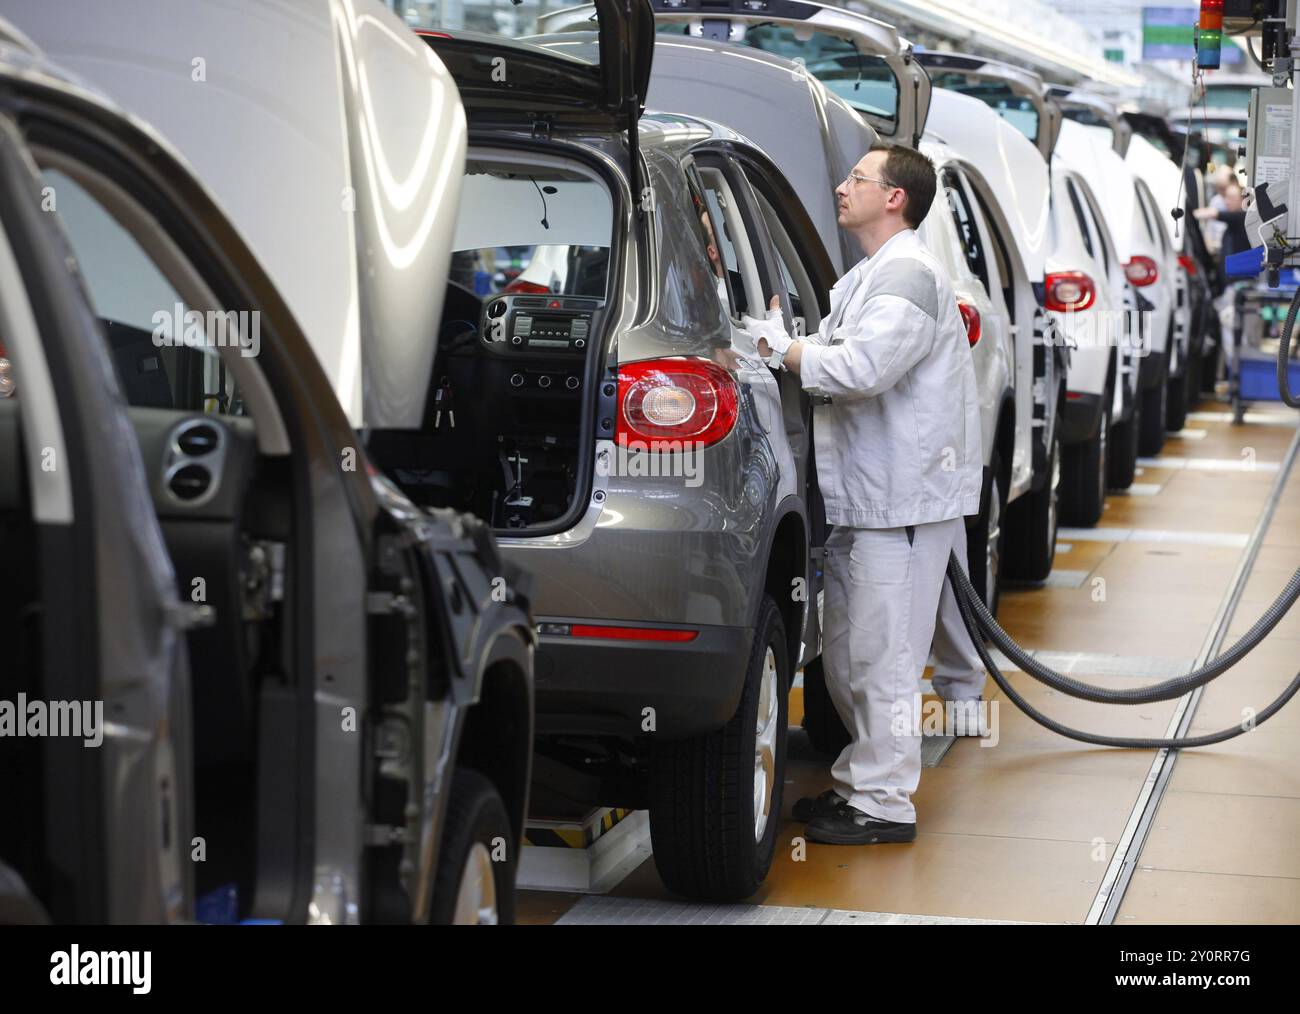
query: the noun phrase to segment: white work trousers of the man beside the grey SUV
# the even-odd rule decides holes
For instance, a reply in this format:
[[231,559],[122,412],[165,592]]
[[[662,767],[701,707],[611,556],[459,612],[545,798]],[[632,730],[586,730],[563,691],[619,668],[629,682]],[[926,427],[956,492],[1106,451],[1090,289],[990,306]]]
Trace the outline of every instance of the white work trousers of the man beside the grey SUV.
[[[836,526],[826,542],[822,660],[850,742],[831,768],[835,788],[880,820],[915,823],[920,781],[916,702],[931,642],[935,693],[978,698],[984,671],[944,571],[966,562],[961,517],[906,528]],[[937,620],[937,623],[936,623]]]

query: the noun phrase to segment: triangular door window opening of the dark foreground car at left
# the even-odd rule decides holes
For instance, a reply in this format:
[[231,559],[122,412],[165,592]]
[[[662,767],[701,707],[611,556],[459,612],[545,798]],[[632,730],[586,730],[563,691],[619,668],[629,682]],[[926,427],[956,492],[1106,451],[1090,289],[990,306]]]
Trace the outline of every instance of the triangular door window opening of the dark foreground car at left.
[[77,181],[42,173],[100,318],[127,404],[247,415],[222,348],[260,351],[256,311],[191,309],[135,238]]

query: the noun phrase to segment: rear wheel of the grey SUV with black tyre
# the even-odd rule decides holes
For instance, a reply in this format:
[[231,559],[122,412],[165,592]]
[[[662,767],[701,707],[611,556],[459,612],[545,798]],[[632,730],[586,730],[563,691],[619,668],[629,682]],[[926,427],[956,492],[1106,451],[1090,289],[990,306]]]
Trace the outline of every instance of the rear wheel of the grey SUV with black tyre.
[[767,876],[785,783],[789,654],[763,597],[736,714],[723,728],[654,744],[650,844],[664,885],[703,901],[748,898]]

